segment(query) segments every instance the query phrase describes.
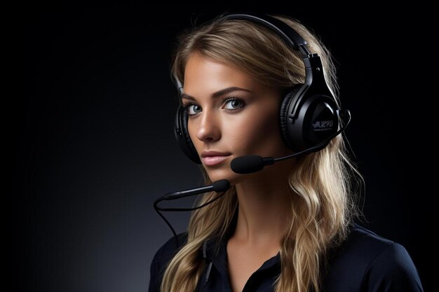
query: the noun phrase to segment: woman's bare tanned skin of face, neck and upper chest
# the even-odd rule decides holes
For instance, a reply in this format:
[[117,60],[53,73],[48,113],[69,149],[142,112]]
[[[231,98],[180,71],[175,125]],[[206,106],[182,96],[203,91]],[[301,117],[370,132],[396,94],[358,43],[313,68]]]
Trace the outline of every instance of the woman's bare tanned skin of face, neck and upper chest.
[[[214,97],[228,88],[239,89]],[[295,160],[276,162],[253,174],[234,173],[230,162],[241,155],[276,158],[292,153],[278,126],[281,94],[231,64],[198,54],[189,57],[183,91],[189,135],[198,155],[208,150],[231,153],[218,165],[203,166],[212,181],[229,179],[236,186],[238,222],[227,256],[232,290],[242,291],[251,274],[280,250],[290,220],[288,174]],[[228,97],[239,101],[224,102]]]

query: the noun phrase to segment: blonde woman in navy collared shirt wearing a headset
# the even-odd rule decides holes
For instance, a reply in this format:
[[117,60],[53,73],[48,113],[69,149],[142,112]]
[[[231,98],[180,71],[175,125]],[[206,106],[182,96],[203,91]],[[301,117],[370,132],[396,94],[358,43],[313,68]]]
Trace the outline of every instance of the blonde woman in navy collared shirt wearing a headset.
[[[297,20],[276,16],[299,34],[292,32],[292,41],[306,41],[294,50],[253,16],[220,17],[180,38],[172,73],[182,85],[194,155],[185,152],[201,163],[206,185],[227,179],[231,188],[203,195],[198,205],[221,197],[194,211],[182,246],[170,239],[157,251],[149,291],[422,291],[403,246],[353,223],[358,211],[351,178],[357,172],[335,132],[339,127],[318,142],[297,144],[302,138],[285,130],[290,121],[280,118],[290,111],[285,100],[292,103],[312,79],[307,74],[318,80],[318,59],[332,95],[320,103],[323,116],[337,112],[325,125],[337,125],[330,54]],[[323,124],[312,125],[327,130]],[[231,169],[243,155],[276,158],[307,148],[312,151],[257,172]]]

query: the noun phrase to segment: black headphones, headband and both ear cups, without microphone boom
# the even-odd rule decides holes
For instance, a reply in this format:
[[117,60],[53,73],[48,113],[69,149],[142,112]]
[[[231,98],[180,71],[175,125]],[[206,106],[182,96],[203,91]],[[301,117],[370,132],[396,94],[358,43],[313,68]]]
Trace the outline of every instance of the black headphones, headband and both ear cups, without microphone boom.
[[[293,86],[283,97],[279,111],[279,126],[283,141],[295,152],[313,148],[319,151],[329,144],[346,110],[339,109],[323,74],[323,66],[318,54],[311,54],[306,41],[292,27],[269,15],[256,13],[233,13],[223,15],[224,20],[249,20],[273,30],[288,45],[298,50],[306,70],[304,83]],[[177,81],[179,92],[182,90]],[[193,162],[201,164],[196,148],[187,129],[188,113],[182,105],[175,116],[174,134],[180,148]],[[321,145],[319,145],[321,144]],[[316,147],[317,146],[317,147]]]

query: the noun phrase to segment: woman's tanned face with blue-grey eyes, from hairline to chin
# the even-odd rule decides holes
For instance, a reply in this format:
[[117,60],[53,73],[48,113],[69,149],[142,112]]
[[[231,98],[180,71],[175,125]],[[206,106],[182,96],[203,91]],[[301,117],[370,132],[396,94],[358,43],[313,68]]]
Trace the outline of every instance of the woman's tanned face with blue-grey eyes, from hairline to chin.
[[235,184],[251,175],[231,170],[230,162],[238,156],[292,153],[281,139],[276,88],[229,64],[193,54],[184,71],[183,92],[189,135],[211,181]]

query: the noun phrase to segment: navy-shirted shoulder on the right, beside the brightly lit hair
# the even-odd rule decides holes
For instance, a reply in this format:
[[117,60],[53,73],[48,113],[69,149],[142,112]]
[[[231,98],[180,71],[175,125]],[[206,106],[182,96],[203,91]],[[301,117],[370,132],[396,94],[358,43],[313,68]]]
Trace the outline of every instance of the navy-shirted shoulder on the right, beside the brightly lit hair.
[[358,224],[327,259],[325,282],[339,291],[422,291],[405,247]]

